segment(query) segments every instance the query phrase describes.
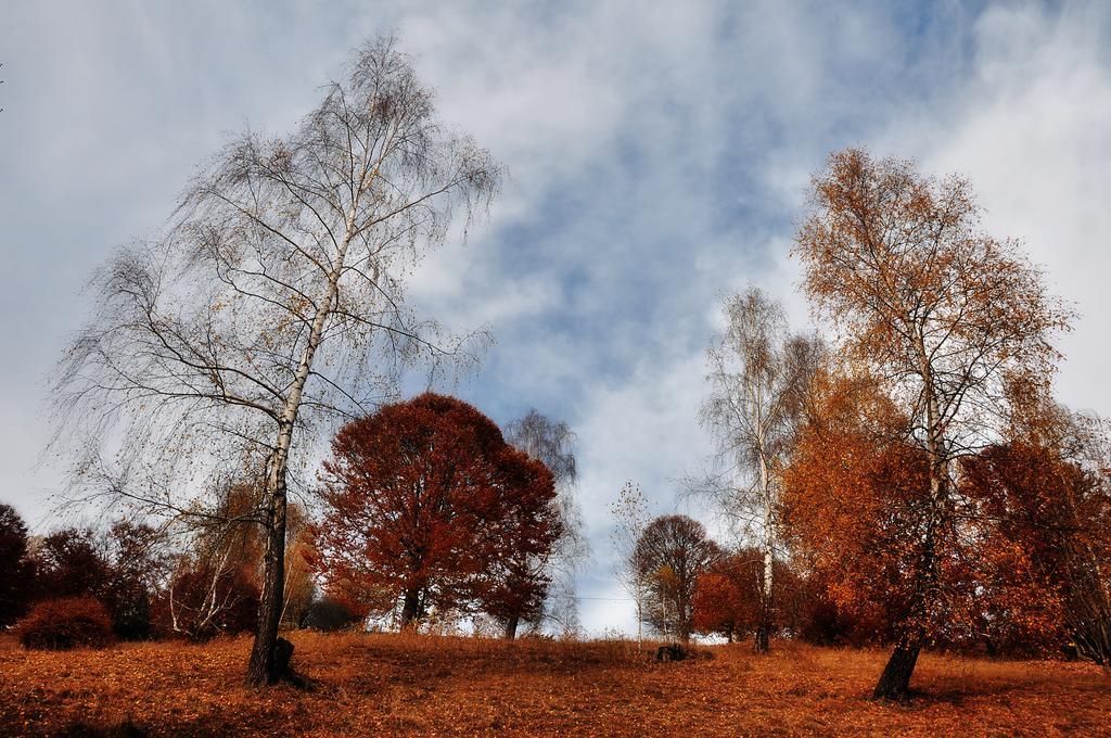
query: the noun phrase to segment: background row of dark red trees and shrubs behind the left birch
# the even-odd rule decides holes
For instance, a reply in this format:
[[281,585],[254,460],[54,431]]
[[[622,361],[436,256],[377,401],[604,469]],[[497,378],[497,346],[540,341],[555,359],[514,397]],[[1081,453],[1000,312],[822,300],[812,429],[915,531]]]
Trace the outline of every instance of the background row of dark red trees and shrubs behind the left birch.
[[[508,436],[474,407],[432,393],[344,426],[323,467],[320,519],[288,508],[281,622],[331,629],[392,618],[413,628],[487,617],[507,638],[523,625],[577,630],[565,589],[585,554],[573,436],[536,410]],[[186,529],[120,520],[34,540],[0,508],[3,552],[17,562],[0,577],[2,625],[34,602],[64,619],[53,600],[84,598],[123,639],[253,629],[259,496],[247,477],[224,483]]]

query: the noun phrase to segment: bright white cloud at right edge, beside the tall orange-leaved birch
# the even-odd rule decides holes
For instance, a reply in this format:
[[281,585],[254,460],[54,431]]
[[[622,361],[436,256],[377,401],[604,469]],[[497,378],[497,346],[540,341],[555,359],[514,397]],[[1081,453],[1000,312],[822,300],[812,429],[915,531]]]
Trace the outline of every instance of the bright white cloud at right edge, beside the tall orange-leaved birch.
[[878,151],[917,157],[927,171],[969,178],[984,225],[1019,238],[1050,289],[1081,313],[1062,337],[1059,393],[1111,415],[1111,56],[1107,6],[988,10],[975,24],[967,84],[932,117],[897,119]]

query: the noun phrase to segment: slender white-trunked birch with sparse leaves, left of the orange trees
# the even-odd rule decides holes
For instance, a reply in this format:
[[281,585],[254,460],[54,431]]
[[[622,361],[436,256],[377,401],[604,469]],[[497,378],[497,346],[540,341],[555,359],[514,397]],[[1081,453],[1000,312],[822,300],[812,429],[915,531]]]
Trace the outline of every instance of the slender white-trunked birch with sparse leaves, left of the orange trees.
[[711,393],[701,420],[717,441],[720,475],[697,480],[742,537],[763,556],[754,647],[767,652],[773,628],[774,561],[780,546],[780,473],[803,393],[822,348],[792,335],[782,306],[755,287],[727,297],[725,330],[707,351]]

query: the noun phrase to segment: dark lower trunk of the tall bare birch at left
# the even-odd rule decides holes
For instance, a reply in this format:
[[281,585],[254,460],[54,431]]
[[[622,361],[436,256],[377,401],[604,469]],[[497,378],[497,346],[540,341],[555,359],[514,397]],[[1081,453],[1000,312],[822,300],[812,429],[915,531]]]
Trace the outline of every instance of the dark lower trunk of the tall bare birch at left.
[[259,622],[247,667],[247,684],[252,687],[272,685],[282,678],[276,668],[278,625],[281,620],[286,586],[286,482],[280,479],[270,499],[267,520],[267,548],[262,564],[262,595],[259,598]]

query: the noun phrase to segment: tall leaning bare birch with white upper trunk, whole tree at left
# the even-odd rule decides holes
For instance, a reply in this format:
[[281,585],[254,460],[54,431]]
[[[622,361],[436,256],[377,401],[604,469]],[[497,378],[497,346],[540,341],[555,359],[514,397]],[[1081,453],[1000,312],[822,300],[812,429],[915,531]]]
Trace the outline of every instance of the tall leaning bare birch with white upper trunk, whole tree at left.
[[[248,131],[196,177],[157,238],[96,275],[92,319],[52,386],[56,443],[88,493],[204,512],[221,467],[258,470],[266,532],[248,680],[273,682],[287,490],[314,432],[393,392],[418,357],[471,357],[403,305],[407,277],[501,170],[436,119],[393,38],[362,47],[286,137]],[[111,442],[110,442],[111,441]]]

